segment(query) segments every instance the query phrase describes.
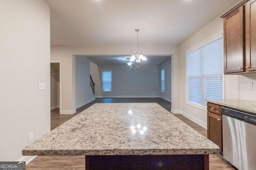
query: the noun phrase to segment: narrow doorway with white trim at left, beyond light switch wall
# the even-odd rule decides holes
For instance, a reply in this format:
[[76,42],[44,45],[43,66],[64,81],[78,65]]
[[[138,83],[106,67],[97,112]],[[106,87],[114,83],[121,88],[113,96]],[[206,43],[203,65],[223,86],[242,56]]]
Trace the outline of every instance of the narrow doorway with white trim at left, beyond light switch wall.
[[50,109],[51,112],[61,112],[60,102],[60,61],[50,63]]

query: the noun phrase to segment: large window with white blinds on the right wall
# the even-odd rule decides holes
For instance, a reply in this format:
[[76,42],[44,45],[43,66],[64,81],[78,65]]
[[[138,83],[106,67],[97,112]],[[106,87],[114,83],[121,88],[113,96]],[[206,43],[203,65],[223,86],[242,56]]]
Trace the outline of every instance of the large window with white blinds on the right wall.
[[206,107],[205,99],[222,99],[222,34],[187,52],[187,100]]

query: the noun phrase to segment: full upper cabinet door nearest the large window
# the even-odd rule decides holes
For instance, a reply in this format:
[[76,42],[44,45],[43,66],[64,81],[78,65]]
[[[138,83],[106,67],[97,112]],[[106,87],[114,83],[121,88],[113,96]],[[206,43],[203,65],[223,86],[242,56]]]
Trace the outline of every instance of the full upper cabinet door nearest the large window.
[[244,6],[224,18],[224,73],[244,72]]

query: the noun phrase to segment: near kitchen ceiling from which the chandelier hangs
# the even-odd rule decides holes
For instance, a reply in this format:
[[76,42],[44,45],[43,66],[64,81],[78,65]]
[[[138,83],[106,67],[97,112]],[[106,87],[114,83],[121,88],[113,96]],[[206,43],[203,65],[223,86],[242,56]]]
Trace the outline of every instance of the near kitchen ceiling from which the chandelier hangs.
[[45,0],[52,45],[178,45],[238,0]]

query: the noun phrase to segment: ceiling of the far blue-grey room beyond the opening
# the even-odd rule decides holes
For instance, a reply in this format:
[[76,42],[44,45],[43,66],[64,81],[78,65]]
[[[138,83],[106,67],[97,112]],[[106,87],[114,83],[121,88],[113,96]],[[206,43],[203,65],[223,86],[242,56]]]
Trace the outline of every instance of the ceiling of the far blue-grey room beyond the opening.
[[[110,64],[126,64],[130,56],[86,56],[90,61],[97,65],[110,65]],[[169,59],[171,56],[146,56],[148,61],[142,61],[135,64],[161,64]]]

